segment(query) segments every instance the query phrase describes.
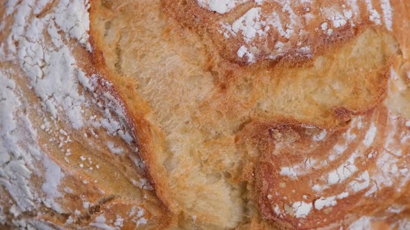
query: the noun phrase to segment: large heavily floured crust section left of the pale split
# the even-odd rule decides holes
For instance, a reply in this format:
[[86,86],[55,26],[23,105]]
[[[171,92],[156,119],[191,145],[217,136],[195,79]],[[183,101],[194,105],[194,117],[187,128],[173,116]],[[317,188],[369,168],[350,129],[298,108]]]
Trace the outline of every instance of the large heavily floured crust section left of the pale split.
[[0,229],[167,226],[124,104],[81,33],[88,2],[0,6]]

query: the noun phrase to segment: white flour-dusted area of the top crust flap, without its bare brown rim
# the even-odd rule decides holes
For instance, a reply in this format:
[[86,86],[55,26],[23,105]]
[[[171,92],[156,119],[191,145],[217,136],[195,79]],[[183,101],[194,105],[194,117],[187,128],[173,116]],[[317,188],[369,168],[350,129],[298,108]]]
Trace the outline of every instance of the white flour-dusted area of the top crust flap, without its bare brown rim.
[[[231,19],[218,21],[218,31],[227,42],[244,42],[238,49],[238,57],[249,64],[256,60],[277,60],[290,52],[312,57],[316,47],[313,47],[315,44],[309,41],[309,37],[332,39],[368,22],[384,26],[388,30],[393,28],[393,8],[388,0],[366,0],[363,3],[345,0],[331,4],[322,1],[279,0],[197,2],[202,8],[220,15],[235,12],[244,3],[254,6],[243,15],[235,15],[233,22]],[[361,8],[365,8],[366,12],[361,13]],[[379,8],[382,10],[378,10]],[[266,46],[272,44],[274,49],[266,50]],[[244,49],[249,51],[248,55],[243,55]]]

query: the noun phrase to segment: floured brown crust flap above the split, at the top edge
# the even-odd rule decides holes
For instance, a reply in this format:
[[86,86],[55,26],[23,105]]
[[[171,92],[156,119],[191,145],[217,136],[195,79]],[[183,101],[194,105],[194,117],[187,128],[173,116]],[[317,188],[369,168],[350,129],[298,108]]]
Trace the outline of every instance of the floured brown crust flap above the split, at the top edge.
[[[275,62],[287,62],[290,65],[303,63],[334,46],[342,46],[363,28],[382,24],[371,20],[371,12],[366,10],[364,1],[244,2],[238,3],[229,12],[218,14],[208,10],[206,5],[201,7],[196,0],[164,0],[163,11],[183,26],[211,39],[210,45],[217,46],[222,57],[241,65],[254,62],[263,65]],[[238,24],[236,28],[233,26],[234,21],[254,9],[259,14],[249,13],[249,17],[254,17],[256,22],[261,21],[261,25],[253,26],[256,31],[241,28]],[[245,20],[241,21],[244,24],[242,26],[252,27]],[[286,44],[286,48],[277,48],[278,42]],[[244,44],[258,50],[254,62],[249,63],[249,60],[238,57],[238,50]],[[309,47],[309,51],[304,51],[302,47]]]

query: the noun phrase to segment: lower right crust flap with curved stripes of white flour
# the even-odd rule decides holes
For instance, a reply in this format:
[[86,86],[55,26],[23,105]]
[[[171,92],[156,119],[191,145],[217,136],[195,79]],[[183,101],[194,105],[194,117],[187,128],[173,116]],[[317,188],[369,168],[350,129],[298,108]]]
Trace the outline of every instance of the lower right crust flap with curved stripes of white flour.
[[[402,153],[410,148],[405,122],[379,107],[336,132],[257,125],[250,133],[263,152],[256,169],[263,217],[300,229],[340,221],[348,226],[347,217],[404,204],[409,157]],[[277,132],[276,137],[269,130]],[[297,202],[304,204],[295,206]],[[307,214],[298,210],[304,207]]]

